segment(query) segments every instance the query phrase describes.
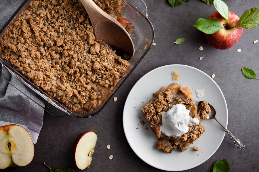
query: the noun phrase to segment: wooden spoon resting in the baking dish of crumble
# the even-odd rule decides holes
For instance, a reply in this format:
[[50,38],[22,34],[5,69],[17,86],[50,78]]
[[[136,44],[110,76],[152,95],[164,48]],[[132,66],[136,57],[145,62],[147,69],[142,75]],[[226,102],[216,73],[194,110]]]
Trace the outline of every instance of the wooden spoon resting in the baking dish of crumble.
[[116,54],[128,60],[134,55],[134,44],[125,28],[100,9],[93,0],[80,0],[94,28],[97,39],[116,50]]

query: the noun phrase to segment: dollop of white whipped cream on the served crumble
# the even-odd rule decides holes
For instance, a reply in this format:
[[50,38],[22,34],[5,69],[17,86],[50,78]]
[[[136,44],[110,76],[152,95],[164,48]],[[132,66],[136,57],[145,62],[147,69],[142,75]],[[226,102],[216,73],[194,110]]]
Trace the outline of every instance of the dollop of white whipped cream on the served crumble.
[[167,112],[162,113],[162,126],[160,131],[166,136],[182,136],[188,132],[189,124],[199,124],[198,118],[191,118],[190,111],[182,104],[173,105]]

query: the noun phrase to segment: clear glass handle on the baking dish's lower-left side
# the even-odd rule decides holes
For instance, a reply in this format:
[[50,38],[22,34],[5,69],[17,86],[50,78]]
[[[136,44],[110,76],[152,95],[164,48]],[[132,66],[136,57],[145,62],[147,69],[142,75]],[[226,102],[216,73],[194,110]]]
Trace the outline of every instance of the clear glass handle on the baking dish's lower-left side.
[[54,116],[66,116],[68,112],[58,107],[54,102],[49,101],[47,97],[38,93],[35,89],[31,88],[30,85],[19,79],[8,67],[2,64],[2,75],[5,80],[13,87],[18,89],[21,93],[27,96],[29,99],[37,103],[39,106],[44,108],[47,112]]

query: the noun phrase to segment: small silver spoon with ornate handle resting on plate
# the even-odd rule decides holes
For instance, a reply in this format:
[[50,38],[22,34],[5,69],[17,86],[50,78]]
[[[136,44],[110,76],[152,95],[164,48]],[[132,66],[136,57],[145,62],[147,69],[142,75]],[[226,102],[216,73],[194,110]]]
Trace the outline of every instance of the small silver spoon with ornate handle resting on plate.
[[[199,101],[198,103],[198,106],[202,103],[202,101]],[[228,134],[228,136],[231,138],[231,140],[233,141],[233,143],[237,146],[238,149],[242,150],[245,145],[236,137],[234,136],[234,134],[232,134],[230,131],[228,131],[228,129],[226,129],[226,127],[224,127],[218,120],[217,118],[215,117],[216,116],[216,110],[214,109],[214,107],[212,105],[210,105],[209,103],[209,106],[210,106],[210,114],[208,114],[208,117],[207,119],[208,120],[211,120],[211,119],[214,119],[216,120],[220,126],[222,126],[222,128],[224,128],[225,132]]]

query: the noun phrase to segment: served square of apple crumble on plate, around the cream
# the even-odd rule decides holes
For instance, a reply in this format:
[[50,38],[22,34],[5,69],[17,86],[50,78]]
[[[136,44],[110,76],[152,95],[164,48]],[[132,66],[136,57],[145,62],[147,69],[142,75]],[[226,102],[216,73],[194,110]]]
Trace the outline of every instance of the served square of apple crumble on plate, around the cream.
[[[183,87],[179,83],[173,83],[169,87],[161,87],[156,96],[151,99],[141,111],[144,113],[152,130],[158,137],[155,145],[158,150],[163,150],[165,153],[172,153],[173,149],[180,149],[181,152],[189,147],[197,138],[205,132],[205,128],[201,123],[201,117],[198,113],[195,100],[192,98],[190,87]],[[182,104],[187,110],[190,110],[191,118],[198,118],[198,125],[189,125],[189,130],[180,137],[166,136],[161,133],[160,126],[162,124],[162,113],[168,111],[175,104]]]

